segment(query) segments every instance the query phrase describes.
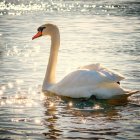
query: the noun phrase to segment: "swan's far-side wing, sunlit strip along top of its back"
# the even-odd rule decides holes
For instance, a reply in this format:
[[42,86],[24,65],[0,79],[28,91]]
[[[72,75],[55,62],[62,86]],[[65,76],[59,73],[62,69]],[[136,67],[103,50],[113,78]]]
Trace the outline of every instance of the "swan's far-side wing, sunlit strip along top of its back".
[[104,75],[106,75],[107,78],[114,82],[119,82],[124,79],[124,76],[116,71],[110,70],[102,66],[101,64],[90,64],[86,66],[79,67],[79,69],[88,69],[88,70],[94,70],[98,71]]

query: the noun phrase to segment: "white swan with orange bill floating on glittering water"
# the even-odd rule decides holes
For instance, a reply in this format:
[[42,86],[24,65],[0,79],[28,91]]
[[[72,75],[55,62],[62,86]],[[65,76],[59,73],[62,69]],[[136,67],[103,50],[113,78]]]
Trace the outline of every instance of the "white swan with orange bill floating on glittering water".
[[71,98],[95,96],[97,99],[128,97],[138,92],[122,88],[119,82],[124,79],[124,76],[98,63],[79,67],[56,83],[55,72],[60,47],[59,29],[56,25],[49,23],[40,26],[37,30],[32,40],[45,35],[51,37],[50,56],[42,85],[43,91]]

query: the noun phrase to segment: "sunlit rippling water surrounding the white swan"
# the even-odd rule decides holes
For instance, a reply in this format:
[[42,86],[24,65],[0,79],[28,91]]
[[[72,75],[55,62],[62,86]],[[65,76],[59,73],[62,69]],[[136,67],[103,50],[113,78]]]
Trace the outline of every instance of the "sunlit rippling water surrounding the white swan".
[[139,93],[125,102],[41,93],[50,38],[31,38],[47,22],[61,32],[57,81],[102,63],[140,89],[139,0],[1,0],[0,139],[139,139]]

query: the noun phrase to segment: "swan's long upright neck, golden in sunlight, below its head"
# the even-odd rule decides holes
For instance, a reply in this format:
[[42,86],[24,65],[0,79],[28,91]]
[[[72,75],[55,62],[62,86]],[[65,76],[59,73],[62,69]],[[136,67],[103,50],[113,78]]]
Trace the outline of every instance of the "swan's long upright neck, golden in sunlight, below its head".
[[59,30],[56,28],[51,34],[51,49],[50,49],[50,57],[47,66],[47,71],[45,74],[43,86],[46,84],[53,84],[55,83],[56,78],[56,64],[57,64],[57,57],[58,57],[58,50],[60,46],[60,34]]

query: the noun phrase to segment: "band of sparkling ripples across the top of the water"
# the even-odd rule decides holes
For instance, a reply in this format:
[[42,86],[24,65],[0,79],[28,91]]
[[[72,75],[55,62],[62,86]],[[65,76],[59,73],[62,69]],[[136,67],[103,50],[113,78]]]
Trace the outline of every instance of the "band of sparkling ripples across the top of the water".
[[[71,1],[18,1],[18,2],[0,2],[0,15],[21,15],[28,12],[77,12],[77,13],[86,13],[86,14],[95,14],[95,15],[110,15],[110,14],[138,14],[139,3],[131,3],[135,6],[135,9],[132,10],[129,3],[118,2],[98,2],[93,4],[93,2],[88,1],[84,3],[83,1],[71,2]],[[133,7],[134,7],[133,6]],[[118,11],[118,12],[116,12]]]

